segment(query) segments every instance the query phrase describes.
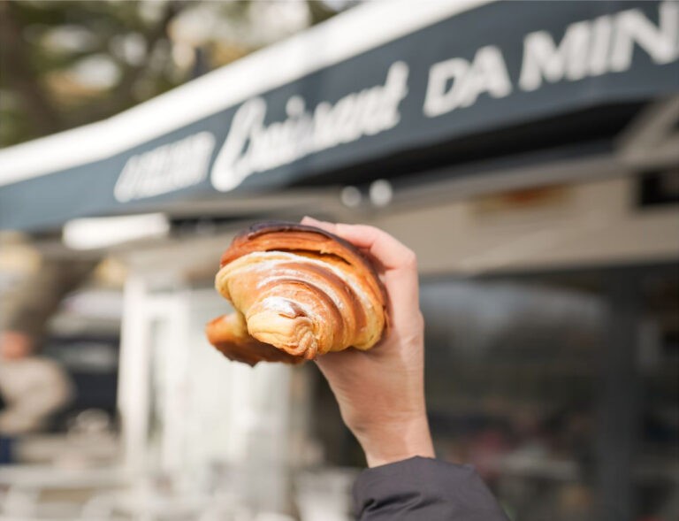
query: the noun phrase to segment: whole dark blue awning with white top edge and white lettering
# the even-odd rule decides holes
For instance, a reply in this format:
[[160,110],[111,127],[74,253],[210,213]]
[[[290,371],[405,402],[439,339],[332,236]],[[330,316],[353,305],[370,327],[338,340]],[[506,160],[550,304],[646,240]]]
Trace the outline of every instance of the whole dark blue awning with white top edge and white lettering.
[[114,118],[0,150],[0,228],[333,183],[403,151],[676,93],[677,60],[674,2],[365,4]]

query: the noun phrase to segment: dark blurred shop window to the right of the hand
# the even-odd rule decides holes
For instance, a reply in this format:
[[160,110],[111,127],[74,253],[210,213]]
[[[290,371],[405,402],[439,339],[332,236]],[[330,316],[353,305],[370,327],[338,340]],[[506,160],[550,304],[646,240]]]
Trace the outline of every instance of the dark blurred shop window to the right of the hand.
[[422,308],[437,452],[512,518],[679,518],[676,266],[424,280]]

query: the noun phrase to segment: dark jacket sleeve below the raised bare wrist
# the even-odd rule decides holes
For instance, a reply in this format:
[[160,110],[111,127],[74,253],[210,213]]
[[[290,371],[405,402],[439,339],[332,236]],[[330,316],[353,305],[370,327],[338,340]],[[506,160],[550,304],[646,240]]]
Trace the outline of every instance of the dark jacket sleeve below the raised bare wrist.
[[471,466],[426,457],[363,471],[354,503],[360,521],[507,521]]

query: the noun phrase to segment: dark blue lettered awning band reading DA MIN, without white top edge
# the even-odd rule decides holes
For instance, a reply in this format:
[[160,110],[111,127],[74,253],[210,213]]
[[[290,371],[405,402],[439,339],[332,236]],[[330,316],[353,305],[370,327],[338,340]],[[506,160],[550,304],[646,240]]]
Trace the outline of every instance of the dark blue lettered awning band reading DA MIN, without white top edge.
[[111,157],[6,184],[0,227],[273,190],[402,150],[652,99],[679,91],[678,61],[675,2],[484,4]]

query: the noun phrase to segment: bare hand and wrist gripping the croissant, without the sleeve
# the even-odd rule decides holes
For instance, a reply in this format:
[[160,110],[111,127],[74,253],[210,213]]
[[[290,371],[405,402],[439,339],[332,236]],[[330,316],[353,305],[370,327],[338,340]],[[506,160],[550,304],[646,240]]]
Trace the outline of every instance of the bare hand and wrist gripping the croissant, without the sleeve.
[[386,287],[387,336],[368,351],[346,349],[317,359],[368,466],[412,456],[434,457],[424,403],[424,322],[415,253],[372,226],[308,217],[301,223],[336,234],[361,249],[378,267]]

